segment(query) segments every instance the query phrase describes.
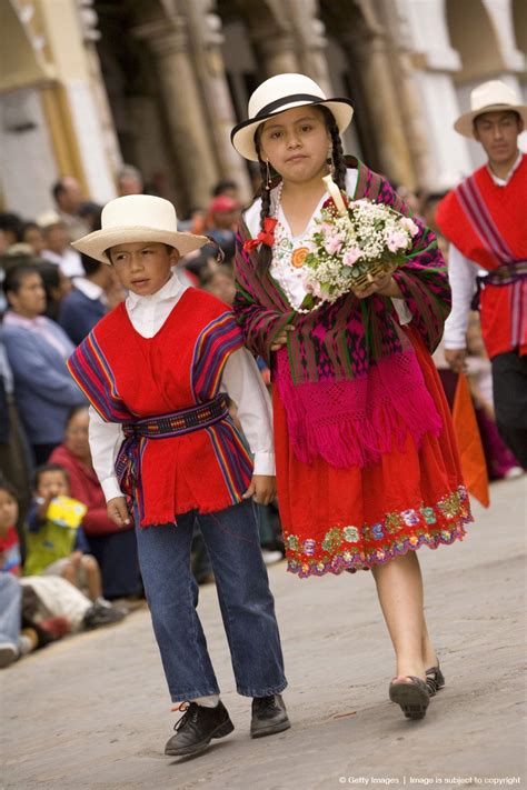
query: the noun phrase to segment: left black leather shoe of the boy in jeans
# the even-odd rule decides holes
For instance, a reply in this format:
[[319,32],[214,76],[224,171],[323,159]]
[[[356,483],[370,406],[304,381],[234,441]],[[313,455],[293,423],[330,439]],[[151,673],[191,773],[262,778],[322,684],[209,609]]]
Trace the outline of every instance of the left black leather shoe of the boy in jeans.
[[203,751],[212,738],[228,736],[235,726],[221,701],[216,708],[206,708],[197,702],[189,702],[185,714],[173,729],[176,734],[167,741],[165,753],[170,757],[183,757]]

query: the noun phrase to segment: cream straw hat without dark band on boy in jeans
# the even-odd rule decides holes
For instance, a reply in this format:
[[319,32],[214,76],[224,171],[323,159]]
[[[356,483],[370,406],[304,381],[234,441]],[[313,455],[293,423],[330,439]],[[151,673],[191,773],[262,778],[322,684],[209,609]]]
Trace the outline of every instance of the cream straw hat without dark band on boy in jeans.
[[205,236],[179,232],[172,203],[153,194],[127,194],[110,200],[102,209],[101,226],[101,230],[73,241],[71,246],[102,263],[111,263],[106,250],[117,244],[158,241],[186,256],[210,241]]

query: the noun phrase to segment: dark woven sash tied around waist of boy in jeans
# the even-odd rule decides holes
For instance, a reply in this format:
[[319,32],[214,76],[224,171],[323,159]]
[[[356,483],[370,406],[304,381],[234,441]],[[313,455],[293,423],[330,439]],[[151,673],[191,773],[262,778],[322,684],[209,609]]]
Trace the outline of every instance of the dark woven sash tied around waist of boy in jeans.
[[125,441],[116,460],[116,474],[121,491],[133,493],[139,472],[139,439],[169,439],[209,428],[229,414],[225,394],[218,394],[207,403],[173,411],[159,417],[145,417],[136,422],[123,422]]

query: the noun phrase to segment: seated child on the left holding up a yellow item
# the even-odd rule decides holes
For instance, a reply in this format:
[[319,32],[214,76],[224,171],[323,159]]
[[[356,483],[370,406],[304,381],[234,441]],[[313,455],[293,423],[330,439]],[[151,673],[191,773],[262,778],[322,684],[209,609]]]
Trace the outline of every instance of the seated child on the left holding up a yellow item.
[[92,601],[102,596],[97,560],[81,522],[86,506],[69,497],[69,476],[58,463],[39,467],[33,500],[28,513],[26,576],[61,576]]

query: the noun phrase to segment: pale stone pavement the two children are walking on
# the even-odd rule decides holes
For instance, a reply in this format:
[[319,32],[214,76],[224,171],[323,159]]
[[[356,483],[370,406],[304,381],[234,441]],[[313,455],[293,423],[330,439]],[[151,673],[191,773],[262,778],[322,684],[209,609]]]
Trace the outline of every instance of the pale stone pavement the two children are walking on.
[[447,678],[422,722],[388,701],[392,654],[369,573],[298,580],[270,571],[294,727],[248,737],[213,587],[200,613],[236,730],[201,757],[163,757],[171,733],[148,611],[51,646],[0,674],[0,788],[374,784],[523,786],[524,480],[493,487],[463,543],[419,551],[427,618]]

